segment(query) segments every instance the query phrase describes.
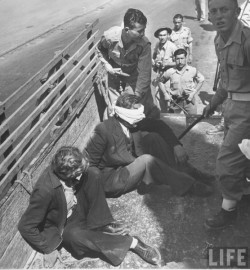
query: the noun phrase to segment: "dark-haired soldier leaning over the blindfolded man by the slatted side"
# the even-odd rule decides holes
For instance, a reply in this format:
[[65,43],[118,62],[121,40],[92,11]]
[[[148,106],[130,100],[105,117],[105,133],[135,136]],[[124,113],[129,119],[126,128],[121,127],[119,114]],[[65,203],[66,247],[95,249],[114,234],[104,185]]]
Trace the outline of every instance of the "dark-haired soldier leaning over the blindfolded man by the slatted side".
[[151,44],[144,36],[147,18],[138,9],[128,9],[124,27],[111,27],[98,44],[99,58],[108,72],[109,114],[123,92],[135,94],[149,117],[159,117],[151,93]]

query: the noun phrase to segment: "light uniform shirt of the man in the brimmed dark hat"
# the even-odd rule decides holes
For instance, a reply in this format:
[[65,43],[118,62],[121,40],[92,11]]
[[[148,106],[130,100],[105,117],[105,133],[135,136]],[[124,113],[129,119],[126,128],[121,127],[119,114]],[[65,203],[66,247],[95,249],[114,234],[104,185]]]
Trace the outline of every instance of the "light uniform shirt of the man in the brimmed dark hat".
[[158,41],[154,48],[153,59],[155,61],[162,61],[163,64],[164,62],[173,63],[175,50],[177,50],[177,47],[172,41],[167,40],[163,46]]

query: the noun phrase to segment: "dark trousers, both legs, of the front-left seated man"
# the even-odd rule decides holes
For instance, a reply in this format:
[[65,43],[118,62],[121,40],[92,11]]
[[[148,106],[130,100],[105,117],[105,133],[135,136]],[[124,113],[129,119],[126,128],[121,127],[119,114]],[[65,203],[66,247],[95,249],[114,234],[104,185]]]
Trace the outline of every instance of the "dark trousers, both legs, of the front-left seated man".
[[91,255],[119,265],[131,246],[132,237],[109,235],[95,230],[112,222],[113,217],[102,182],[91,170],[76,197],[76,208],[63,231],[63,247],[77,259]]

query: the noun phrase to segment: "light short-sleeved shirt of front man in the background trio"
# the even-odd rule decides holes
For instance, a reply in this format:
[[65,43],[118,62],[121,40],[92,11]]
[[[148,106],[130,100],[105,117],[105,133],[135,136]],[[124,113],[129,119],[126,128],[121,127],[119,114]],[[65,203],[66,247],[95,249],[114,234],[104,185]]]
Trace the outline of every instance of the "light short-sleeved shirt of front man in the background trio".
[[204,76],[195,67],[186,65],[182,70],[170,68],[163,74],[163,82],[170,80],[170,88],[174,95],[195,92],[197,83],[204,81]]

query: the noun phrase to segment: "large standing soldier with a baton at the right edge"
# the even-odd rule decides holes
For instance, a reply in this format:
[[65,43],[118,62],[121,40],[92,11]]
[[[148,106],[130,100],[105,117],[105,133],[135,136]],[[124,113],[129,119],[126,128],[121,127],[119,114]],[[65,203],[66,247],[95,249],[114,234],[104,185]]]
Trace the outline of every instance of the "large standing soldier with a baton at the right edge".
[[250,29],[238,19],[237,0],[209,0],[209,18],[216,27],[215,50],[220,62],[221,80],[210,104],[204,109],[209,116],[225,101],[225,135],[217,158],[216,170],[222,191],[222,208],[206,220],[206,227],[221,229],[237,217],[237,202],[249,183],[249,161],[238,146],[250,139]]

